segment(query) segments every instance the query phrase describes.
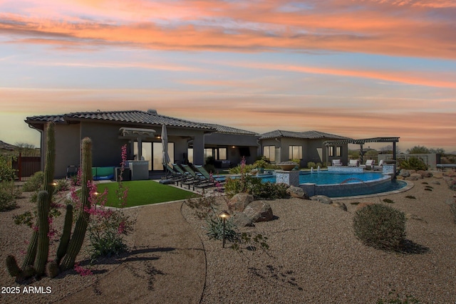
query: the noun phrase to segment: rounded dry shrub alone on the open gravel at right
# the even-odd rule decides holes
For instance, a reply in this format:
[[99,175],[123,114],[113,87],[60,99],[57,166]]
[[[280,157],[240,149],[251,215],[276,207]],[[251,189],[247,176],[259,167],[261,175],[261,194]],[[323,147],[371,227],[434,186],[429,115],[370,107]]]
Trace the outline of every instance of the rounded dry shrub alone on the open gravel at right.
[[405,214],[383,204],[372,204],[356,211],[355,236],[368,246],[398,250],[405,241]]

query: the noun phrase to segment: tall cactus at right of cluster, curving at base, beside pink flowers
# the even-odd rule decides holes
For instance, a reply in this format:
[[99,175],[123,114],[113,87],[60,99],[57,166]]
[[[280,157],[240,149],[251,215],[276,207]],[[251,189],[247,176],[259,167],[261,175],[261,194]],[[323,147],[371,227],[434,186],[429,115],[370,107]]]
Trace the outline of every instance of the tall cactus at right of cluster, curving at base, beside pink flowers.
[[66,271],[73,268],[76,256],[81,250],[90,214],[90,182],[92,182],[92,140],[86,137],[82,141],[82,175],[81,175],[81,214],[76,221],[76,226],[68,244],[68,251],[61,263],[61,270]]

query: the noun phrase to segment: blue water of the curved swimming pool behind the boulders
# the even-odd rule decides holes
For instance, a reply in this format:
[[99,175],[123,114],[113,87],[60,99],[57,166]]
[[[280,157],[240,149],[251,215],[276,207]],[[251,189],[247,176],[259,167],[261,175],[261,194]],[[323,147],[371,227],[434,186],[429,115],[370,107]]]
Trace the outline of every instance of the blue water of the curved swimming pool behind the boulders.
[[[276,182],[274,175],[261,177],[263,182]],[[391,179],[380,172],[300,172],[299,187],[309,196],[329,197],[360,196],[380,194],[404,189],[406,182]]]

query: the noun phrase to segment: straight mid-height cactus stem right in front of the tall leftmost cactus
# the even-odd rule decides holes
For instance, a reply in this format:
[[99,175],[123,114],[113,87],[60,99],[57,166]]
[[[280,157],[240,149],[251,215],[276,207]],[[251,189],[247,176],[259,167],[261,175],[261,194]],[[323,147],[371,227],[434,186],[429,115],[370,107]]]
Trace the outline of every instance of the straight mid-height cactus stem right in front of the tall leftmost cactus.
[[49,194],[46,191],[40,191],[38,193],[38,244],[36,249],[36,259],[33,265],[37,276],[43,275],[49,255],[48,197]]

